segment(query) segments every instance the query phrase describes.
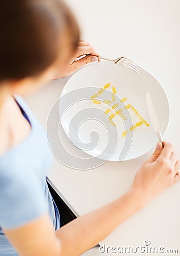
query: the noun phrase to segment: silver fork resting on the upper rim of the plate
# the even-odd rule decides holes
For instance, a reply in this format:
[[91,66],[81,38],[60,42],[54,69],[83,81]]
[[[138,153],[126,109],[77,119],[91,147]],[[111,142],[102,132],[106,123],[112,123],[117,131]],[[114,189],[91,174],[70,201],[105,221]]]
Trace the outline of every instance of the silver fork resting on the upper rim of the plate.
[[119,64],[119,65],[124,65],[125,67],[132,69],[136,73],[141,72],[141,67],[136,63],[134,63],[131,59],[128,59],[127,57],[118,57],[115,60],[113,60],[107,57],[99,56],[99,59],[112,61],[115,64]]

